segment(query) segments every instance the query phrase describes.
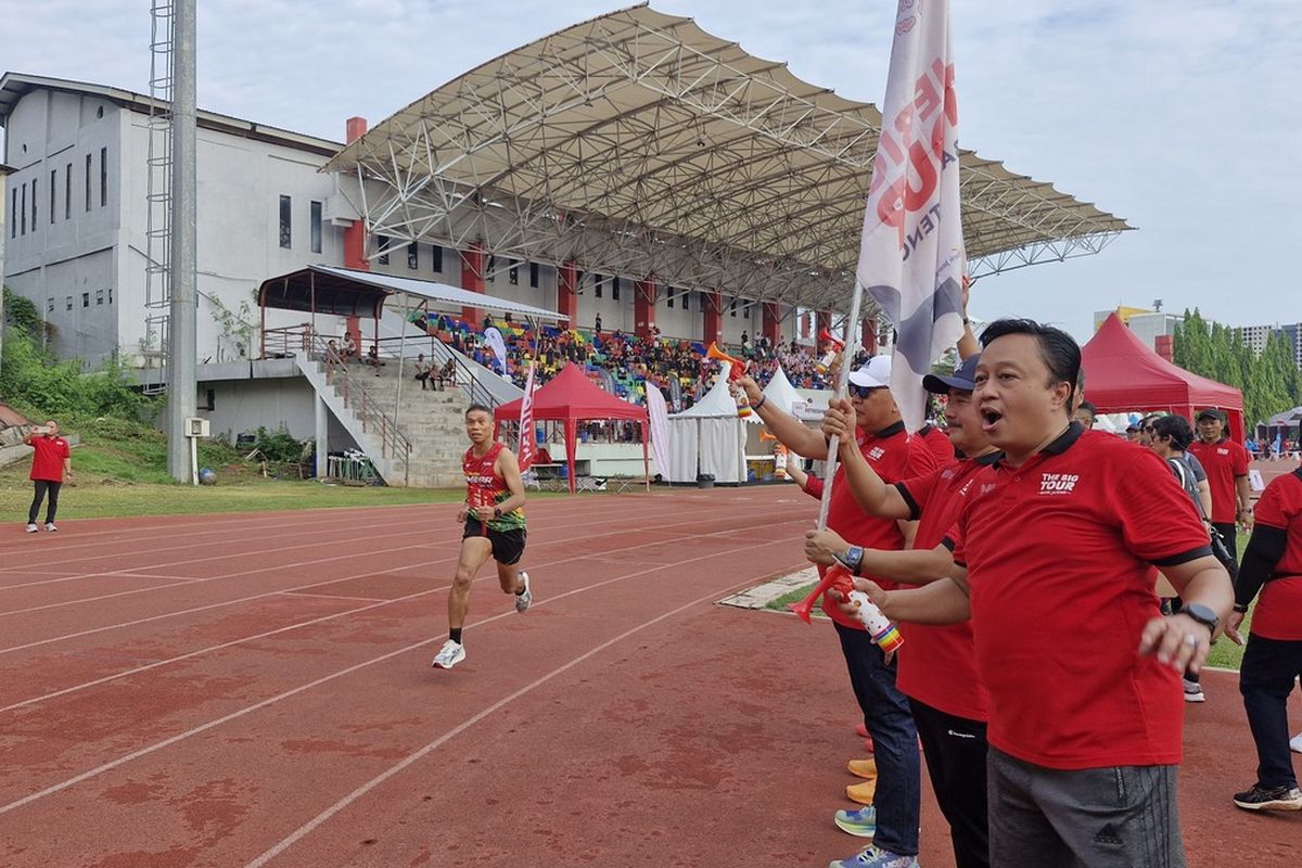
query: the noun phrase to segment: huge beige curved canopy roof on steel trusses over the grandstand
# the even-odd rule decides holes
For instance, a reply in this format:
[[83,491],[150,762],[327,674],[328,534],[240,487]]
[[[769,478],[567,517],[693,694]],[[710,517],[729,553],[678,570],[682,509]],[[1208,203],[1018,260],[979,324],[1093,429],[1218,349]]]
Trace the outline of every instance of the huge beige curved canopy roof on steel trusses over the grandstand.
[[[874,105],[638,5],[454,78],[324,170],[366,180],[354,204],[378,234],[844,311],[880,125]],[[973,151],[961,168],[974,276],[1129,228]]]

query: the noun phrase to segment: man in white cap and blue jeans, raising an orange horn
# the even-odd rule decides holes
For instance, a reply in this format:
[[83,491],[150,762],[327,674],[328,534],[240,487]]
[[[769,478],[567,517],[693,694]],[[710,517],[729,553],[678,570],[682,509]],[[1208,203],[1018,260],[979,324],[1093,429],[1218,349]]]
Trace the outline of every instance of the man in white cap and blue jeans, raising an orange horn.
[[[905,431],[889,385],[891,359],[884,355],[874,357],[850,373],[849,400],[858,426],[858,452],[878,475],[893,483],[934,468],[936,459],[926,444]],[[828,444],[822,433],[769,405],[759,385],[750,377],[743,377],[740,388],[746,390],[751,410],[759,414],[769,432],[788,449],[806,458],[827,457]],[[812,497],[822,497],[823,481],[811,476],[803,489]],[[865,515],[854,502],[854,495],[845,481],[844,466],[837,468],[832,481],[827,526],[872,548],[905,547],[901,522]],[[913,531],[911,527],[907,530]],[[876,759],[875,851],[857,864],[872,868],[917,865],[914,858],[918,854],[922,811],[922,760],[909,703],[896,688],[894,661],[888,662],[859,621],[840,612],[827,597],[823,610],[836,625],[850,685],[863,712],[863,724],[872,737]]]

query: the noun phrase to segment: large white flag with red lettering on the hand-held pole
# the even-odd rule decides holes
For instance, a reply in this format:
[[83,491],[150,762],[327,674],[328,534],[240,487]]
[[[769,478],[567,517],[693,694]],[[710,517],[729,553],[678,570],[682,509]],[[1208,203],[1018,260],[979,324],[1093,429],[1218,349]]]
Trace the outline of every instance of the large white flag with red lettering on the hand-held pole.
[[900,0],[857,277],[896,328],[891,390],[909,431],[922,377],[963,333],[958,103],[948,0]]

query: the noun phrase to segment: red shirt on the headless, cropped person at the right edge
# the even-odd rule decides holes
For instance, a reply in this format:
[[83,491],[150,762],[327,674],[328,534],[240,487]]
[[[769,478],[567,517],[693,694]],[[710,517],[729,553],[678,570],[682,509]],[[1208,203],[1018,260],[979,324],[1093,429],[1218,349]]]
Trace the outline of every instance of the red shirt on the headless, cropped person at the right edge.
[[1253,632],[1263,639],[1302,640],[1302,476],[1276,476],[1256,501],[1256,523],[1285,531],[1284,554],[1253,609]]

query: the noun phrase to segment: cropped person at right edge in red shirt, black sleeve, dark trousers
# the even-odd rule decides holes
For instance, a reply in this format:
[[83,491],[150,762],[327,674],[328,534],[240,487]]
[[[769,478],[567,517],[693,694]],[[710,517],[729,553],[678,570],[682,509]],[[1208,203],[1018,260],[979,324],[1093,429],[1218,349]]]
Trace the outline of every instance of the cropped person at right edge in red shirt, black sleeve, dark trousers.
[[1234,795],[1247,811],[1302,811],[1289,756],[1289,694],[1302,675],[1302,470],[1276,476],[1256,501],[1256,526],[1234,588],[1238,630],[1260,590],[1238,688],[1256,743],[1256,783]]

